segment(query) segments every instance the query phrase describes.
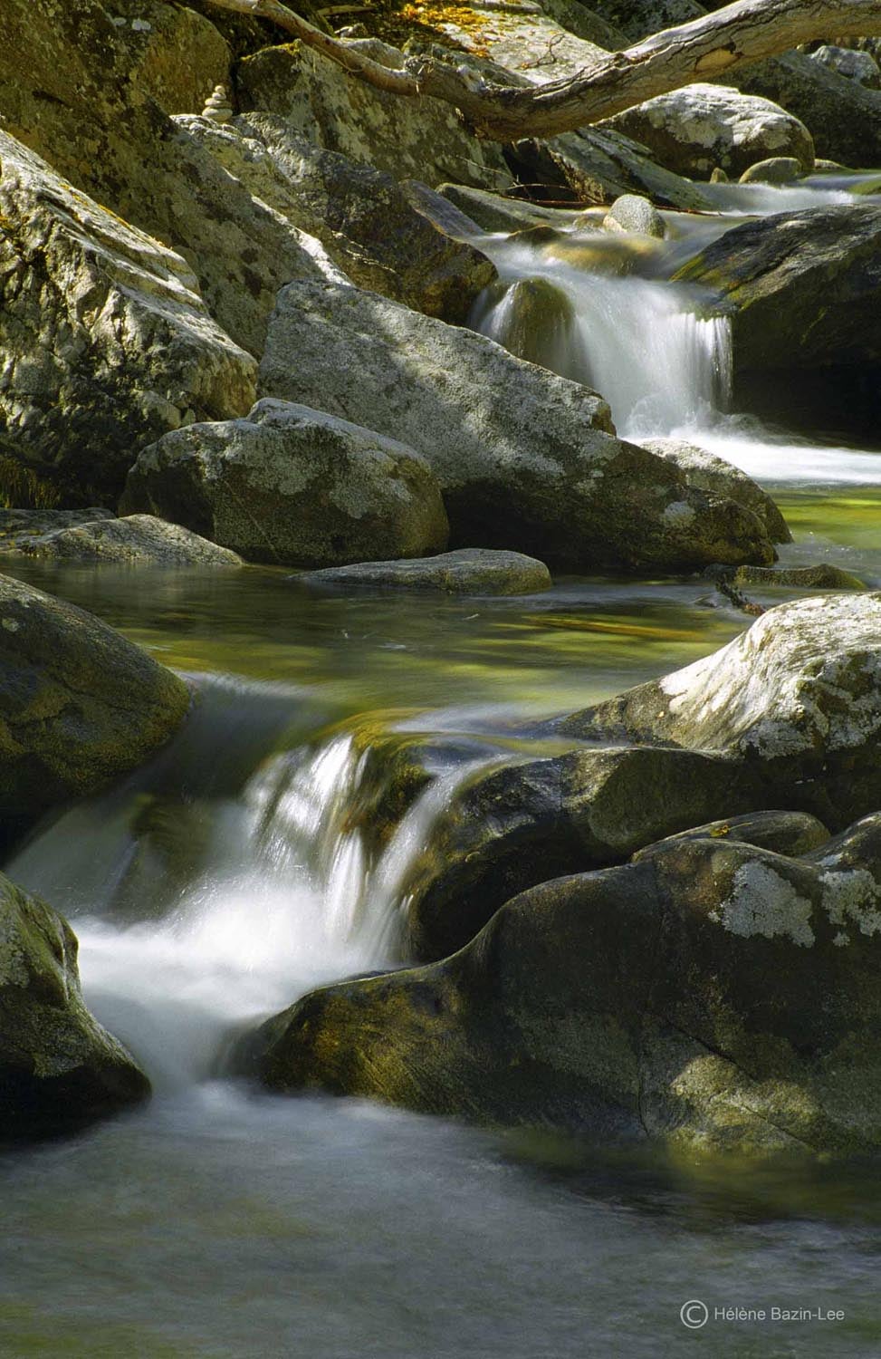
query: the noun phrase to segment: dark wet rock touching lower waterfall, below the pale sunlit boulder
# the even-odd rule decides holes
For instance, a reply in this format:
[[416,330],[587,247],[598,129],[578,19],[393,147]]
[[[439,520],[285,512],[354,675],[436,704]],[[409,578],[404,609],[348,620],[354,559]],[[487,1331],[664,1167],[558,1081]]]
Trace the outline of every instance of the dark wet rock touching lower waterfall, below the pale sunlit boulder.
[[405,954],[443,958],[527,887],[756,805],[748,769],[681,750],[573,750],[481,771],[456,790],[402,885]]

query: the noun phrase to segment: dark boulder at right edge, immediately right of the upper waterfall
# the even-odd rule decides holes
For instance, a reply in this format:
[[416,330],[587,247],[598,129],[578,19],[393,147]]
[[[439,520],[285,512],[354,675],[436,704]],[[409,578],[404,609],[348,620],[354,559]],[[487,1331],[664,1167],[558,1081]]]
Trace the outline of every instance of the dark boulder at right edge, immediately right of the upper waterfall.
[[881,208],[781,212],[726,231],[676,279],[722,295],[736,370],[876,370],[880,241]]

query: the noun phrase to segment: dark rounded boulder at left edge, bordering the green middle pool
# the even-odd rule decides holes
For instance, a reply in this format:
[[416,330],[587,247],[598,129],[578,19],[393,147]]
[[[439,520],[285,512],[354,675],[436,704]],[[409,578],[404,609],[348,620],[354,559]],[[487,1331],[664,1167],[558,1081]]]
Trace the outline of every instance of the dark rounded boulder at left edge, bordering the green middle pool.
[[0,576],[0,824],[134,769],[189,705],[183,681],[113,628]]

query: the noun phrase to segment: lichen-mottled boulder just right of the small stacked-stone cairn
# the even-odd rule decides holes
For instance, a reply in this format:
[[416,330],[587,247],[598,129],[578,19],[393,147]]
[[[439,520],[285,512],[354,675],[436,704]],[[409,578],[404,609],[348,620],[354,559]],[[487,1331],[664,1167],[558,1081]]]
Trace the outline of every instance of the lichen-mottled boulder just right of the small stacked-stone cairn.
[[[386,65],[403,65],[395,48],[371,49]],[[240,63],[243,111],[278,114],[290,132],[396,179],[444,179],[505,192],[510,170],[501,147],[468,132],[456,110],[438,99],[402,99],[352,80],[335,63],[299,42],[265,48]]]

